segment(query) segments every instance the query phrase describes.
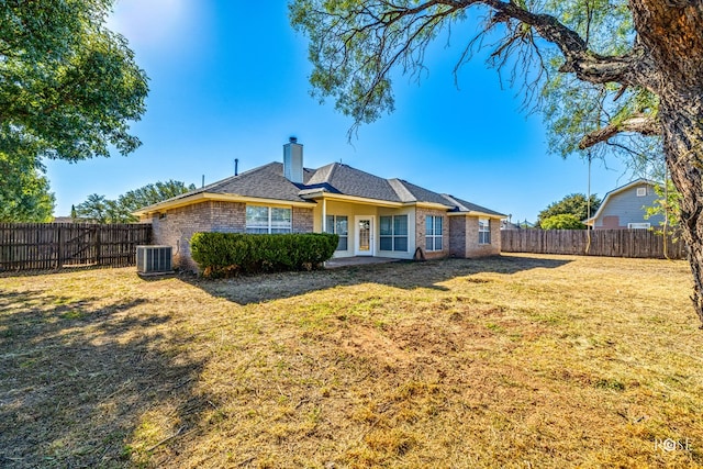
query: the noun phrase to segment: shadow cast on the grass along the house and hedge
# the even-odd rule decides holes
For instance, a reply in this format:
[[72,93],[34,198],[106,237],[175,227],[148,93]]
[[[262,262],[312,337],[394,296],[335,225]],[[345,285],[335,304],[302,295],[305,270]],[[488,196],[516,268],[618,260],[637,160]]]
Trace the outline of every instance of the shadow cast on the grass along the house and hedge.
[[364,283],[386,284],[412,290],[427,288],[446,291],[443,282],[466,277],[482,282],[482,275],[512,275],[532,269],[554,269],[569,264],[568,259],[494,256],[480,259],[444,259],[425,263],[400,261],[338,267],[311,272],[267,273],[233,279],[209,280],[183,278],[185,281],[241,305],[281,300],[312,291]]

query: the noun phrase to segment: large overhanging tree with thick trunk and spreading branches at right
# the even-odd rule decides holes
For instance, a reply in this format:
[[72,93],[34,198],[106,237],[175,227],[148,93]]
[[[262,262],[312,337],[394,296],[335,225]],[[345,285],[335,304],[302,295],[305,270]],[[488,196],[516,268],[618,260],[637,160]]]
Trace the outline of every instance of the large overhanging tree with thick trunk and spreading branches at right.
[[[482,13],[483,27],[466,38],[457,65],[490,43],[492,63],[513,66],[528,96],[544,98],[538,104],[561,130],[555,139],[565,153],[607,144],[638,155],[663,150],[682,197],[692,300],[703,321],[702,1],[293,0],[290,9],[311,40],[313,88],[355,125],[393,109],[392,74],[420,72],[434,38]],[[654,145],[639,136],[655,136]]]

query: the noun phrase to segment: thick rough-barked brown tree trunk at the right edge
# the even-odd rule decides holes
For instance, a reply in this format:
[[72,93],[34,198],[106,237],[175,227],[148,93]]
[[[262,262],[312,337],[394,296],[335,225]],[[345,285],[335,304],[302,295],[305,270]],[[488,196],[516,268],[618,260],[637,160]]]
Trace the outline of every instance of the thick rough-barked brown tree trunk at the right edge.
[[[671,180],[681,192],[681,228],[703,324],[703,4],[631,0],[635,29],[656,64],[659,119]],[[701,326],[703,328],[703,325]]]

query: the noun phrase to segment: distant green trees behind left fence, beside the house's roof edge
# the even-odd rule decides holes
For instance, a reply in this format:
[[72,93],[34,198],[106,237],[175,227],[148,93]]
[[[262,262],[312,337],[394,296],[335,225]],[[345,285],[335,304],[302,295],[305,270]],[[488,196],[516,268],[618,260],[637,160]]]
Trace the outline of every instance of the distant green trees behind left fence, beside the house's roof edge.
[[194,185],[186,186],[185,182],[169,179],[131,190],[118,200],[108,200],[104,196],[93,193],[75,209],[71,208],[71,217],[92,223],[134,223],[138,219],[132,212],[191,190],[196,190]]

